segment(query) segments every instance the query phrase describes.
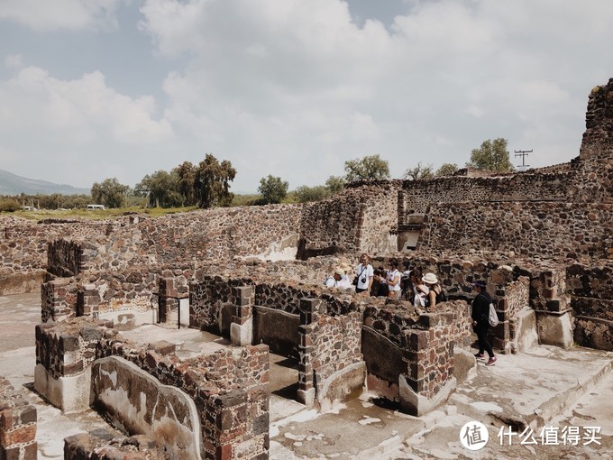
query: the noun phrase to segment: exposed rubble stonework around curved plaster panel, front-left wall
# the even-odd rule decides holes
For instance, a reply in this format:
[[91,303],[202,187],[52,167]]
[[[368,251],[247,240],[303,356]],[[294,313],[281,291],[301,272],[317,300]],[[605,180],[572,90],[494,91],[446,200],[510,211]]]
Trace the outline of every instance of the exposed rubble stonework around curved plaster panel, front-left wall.
[[267,346],[229,347],[180,360],[174,345],[134,345],[109,326],[87,318],[39,325],[37,364],[61,379],[85,372],[98,359],[124,358],[194,400],[203,458],[261,458],[268,452]]

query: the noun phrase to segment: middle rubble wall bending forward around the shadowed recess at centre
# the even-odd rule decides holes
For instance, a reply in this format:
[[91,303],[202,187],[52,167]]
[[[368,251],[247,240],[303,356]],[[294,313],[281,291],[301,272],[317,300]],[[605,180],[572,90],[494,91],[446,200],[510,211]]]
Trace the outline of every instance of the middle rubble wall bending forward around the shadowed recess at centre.
[[[220,326],[220,318],[223,322],[224,311],[229,315],[227,312],[231,310],[228,308],[244,306],[239,296],[244,299],[241,288],[249,285],[252,286],[252,295],[247,296],[252,302],[250,307],[266,307],[299,317],[296,322],[297,343],[287,346],[287,349],[296,349],[299,362],[298,398],[304,398],[307,405],[315,401],[327,404],[334,399],[343,400],[346,391],[351,391],[348,386],[350,389],[355,385],[361,388],[360,331],[363,318],[361,309],[352,301],[352,295],[342,290],[206,276],[190,283],[190,291],[194,292],[190,295],[190,326],[228,335]],[[341,381],[337,373],[351,375],[350,384],[338,384]]]

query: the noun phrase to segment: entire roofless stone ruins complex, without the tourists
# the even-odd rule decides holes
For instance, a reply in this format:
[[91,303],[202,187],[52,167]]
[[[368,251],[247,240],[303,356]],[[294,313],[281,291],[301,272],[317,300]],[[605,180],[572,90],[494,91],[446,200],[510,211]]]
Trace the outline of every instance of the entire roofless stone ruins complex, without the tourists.
[[[445,419],[559,423],[613,374],[613,78],[586,96],[580,152],[545,168],[358,181],[320,201],[160,217],[0,216],[0,295],[40,293],[23,329],[33,379],[0,373],[0,459],[40,458],[43,407],[98,420],[53,435],[70,460],[425,458]],[[361,253],[436,273],[448,299],[420,308],[324,286]],[[491,368],[474,357],[476,281],[499,318]],[[549,361],[514,368],[517,385],[540,382],[515,404],[505,363],[510,373],[530,356]],[[559,386],[539,381],[548,366]],[[498,390],[481,394],[489,384]],[[541,388],[551,394],[538,399]],[[356,425],[373,433],[354,432],[371,445],[351,454],[338,435],[334,451],[325,420],[349,436],[335,408],[357,401],[380,410]],[[388,417],[407,431],[377,431]],[[298,438],[306,423],[322,428]],[[613,452],[600,435],[590,458]]]

